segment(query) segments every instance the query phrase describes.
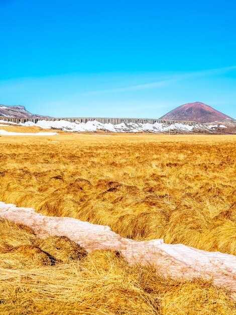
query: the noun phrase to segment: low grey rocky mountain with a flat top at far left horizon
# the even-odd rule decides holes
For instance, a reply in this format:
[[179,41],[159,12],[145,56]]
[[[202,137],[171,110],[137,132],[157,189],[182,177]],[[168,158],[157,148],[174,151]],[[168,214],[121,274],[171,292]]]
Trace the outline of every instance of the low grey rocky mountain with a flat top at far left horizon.
[[5,106],[0,104],[0,117],[9,117],[9,118],[36,118],[36,117],[48,117],[37,114],[32,114],[25,109],[24,106],[14,105],[14,106]]

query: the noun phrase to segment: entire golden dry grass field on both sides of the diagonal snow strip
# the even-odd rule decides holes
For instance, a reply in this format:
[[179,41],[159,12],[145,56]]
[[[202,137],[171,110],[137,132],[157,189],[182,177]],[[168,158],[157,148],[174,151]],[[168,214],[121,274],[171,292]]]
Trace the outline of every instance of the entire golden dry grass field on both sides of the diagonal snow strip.
[[[2,136],[0,146],[0,201],[236,254],[236,136],[59,132]],[[84,256],[66,239],[0,224],[0,314],[236,313],[210,282],[164,279],[115,253]]]

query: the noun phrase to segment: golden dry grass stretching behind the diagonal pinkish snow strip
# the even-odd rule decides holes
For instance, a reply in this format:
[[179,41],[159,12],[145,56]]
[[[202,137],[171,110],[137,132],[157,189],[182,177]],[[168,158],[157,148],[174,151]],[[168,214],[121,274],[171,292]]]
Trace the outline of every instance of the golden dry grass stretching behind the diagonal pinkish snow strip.
[[4,202],[109,225],[136,240],[236,253],[236,136],[0,141]]

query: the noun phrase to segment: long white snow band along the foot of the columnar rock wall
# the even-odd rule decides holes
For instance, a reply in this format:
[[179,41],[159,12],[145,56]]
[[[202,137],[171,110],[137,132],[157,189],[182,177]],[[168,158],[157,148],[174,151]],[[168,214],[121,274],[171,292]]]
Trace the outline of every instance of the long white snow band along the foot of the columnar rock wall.
[[[0,122],[5,122],[1,121]],[[12,123],[12,122],[9,122]],[[12,123],[16,124],[16,123]],[[151,133],[162,133],[162,132],[191,132],[191,131],[204,131],[210,130],[209,127],[203,124],[196,123],[194,125],[190,125],[187,123],[175,122],[172,124],[160,123],[156,122],[154,124],[151,123],[125,123],[122,122],[120,124],[113,125],[111,123],[101,123],[96,120],[88,121],[86,123],[83,122],[70,122],[67,120],[38,120],[37,123],[32,121],[27,121],[25,123],[20,123],[22,126],[38,126],[42,129],[51,129],[57,128],[60,130],[68,131],[68,132],[85,132],[90,131],[94,132],[97,130],[109,131],[109,132],[151,132]]]

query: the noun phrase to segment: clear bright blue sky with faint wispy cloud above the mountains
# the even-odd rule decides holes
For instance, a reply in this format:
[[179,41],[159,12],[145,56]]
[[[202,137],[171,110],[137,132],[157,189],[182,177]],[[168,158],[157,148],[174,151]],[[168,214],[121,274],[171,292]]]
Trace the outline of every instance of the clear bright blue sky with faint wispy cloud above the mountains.
[[0,104],[57,117],[236,118],[236,1],[0,0]]

